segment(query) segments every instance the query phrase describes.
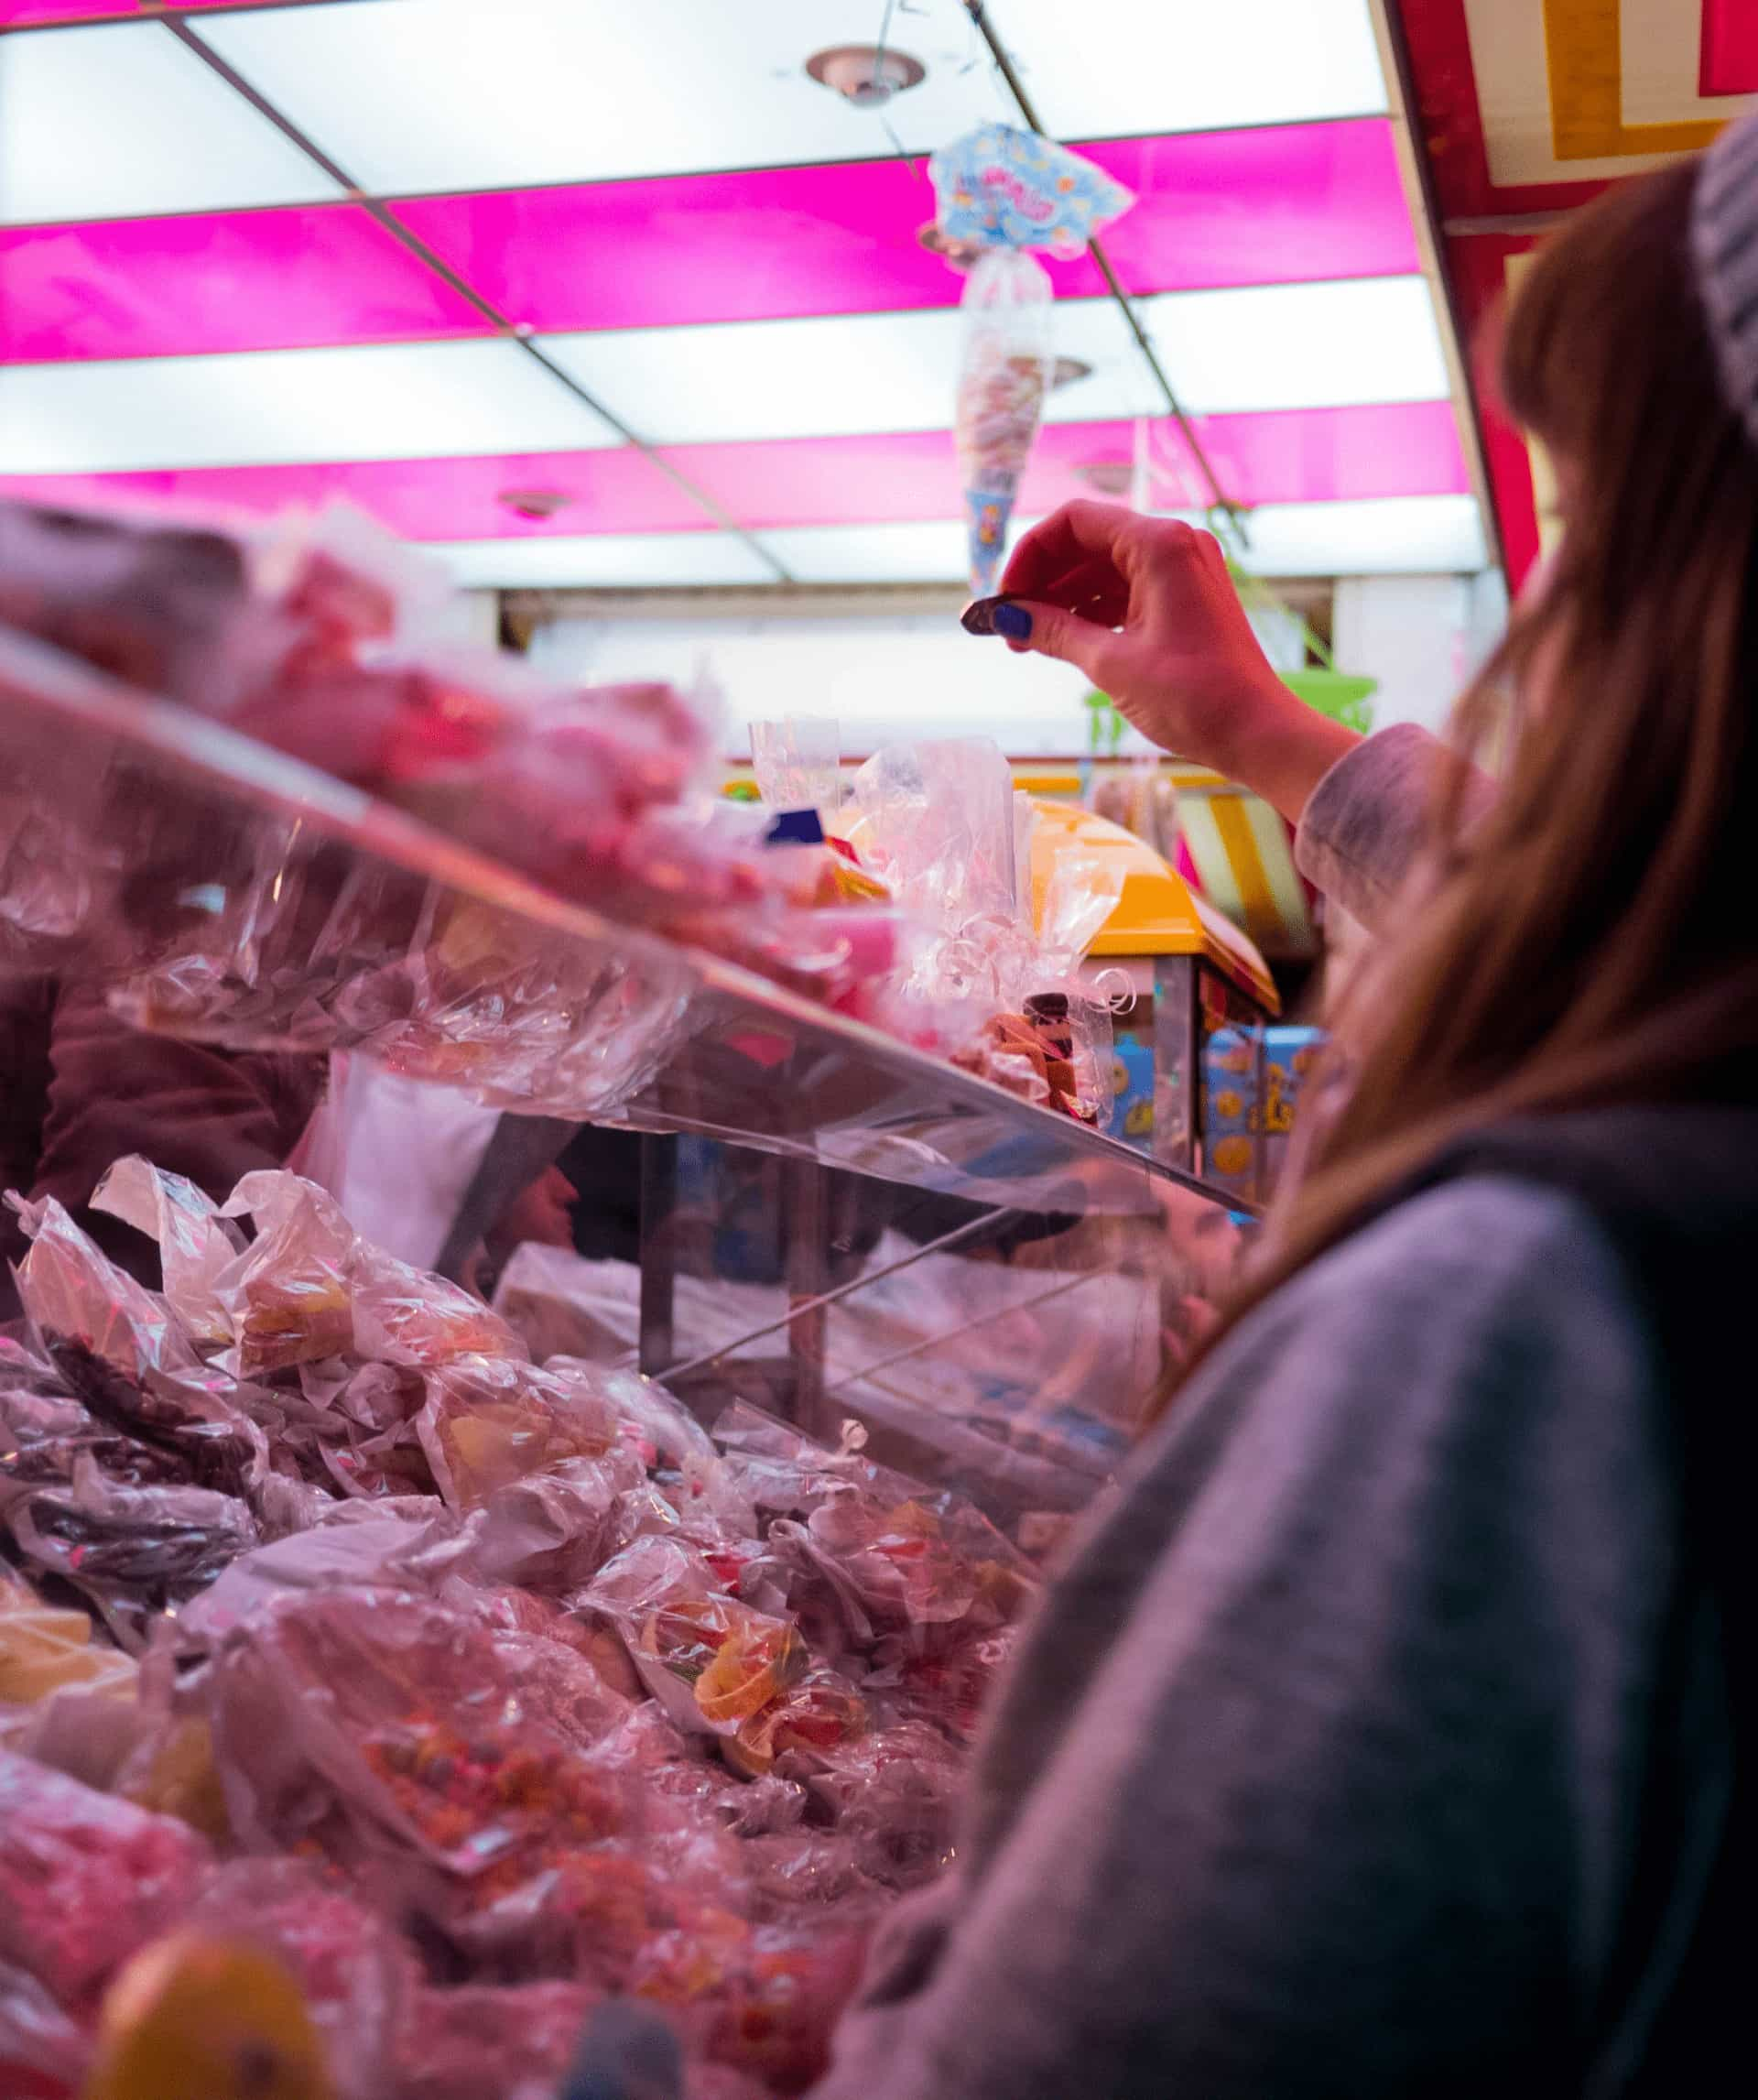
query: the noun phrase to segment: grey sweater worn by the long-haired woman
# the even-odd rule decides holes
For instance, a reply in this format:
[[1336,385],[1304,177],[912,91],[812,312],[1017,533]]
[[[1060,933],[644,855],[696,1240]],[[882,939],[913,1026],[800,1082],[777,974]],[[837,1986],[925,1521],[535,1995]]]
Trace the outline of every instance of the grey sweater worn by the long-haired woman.
[[[1374,739],[1309,804],[1302,865],[1367,924],[1424,764]],[[1573,1199],[1466,1178],[1336,1247],[1094,1514],[817,2100],[1615,2094],[1729,1787],[1680,1522]],[[1632,1980],[1655,1756],[1682,1842]]]

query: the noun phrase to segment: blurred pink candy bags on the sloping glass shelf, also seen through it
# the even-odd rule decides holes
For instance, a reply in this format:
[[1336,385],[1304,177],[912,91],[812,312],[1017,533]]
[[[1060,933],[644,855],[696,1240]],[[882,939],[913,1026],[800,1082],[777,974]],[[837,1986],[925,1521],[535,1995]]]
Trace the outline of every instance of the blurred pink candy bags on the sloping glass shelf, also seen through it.
[[[949,918],[941,880],[972,844],[964,802],[1004,773],[993,746],[968,788],[941,769],[926,811],[893,769],[882,785],[903,783],[901,800],[865,813],[874,853],[773,838],[773,811],[714,792],[712,706],[437,647],[443,598],[418,554],[349,512],[200,529],[0,502],[0,630],[315,764],[372,796],[363,808],[420,819],[613,937],[557,937],[494,884],[422,880],[126,739],[6,710],[0,974],[97,974],[141,1027],[361,1050],[496,1107],[603,1119],[691,1033],[685,947],[914,1048],[1025,1071],[1019,1046],[987,1056],[989,1021],[1054,989],[1073,951],[1050,939],[1040,953],[1012,897],[1006,926],[968,899]],[[0,685],[50,689],[59,662],[13,664]],[[1010,882],[1010,781],[1002,804]],[[903,827],[933,880],[899,850]],[[943,966],[972,945],[993,951],[981,998]],[[1092,1119],[1107,1075],[1098,1046],[1019,1090]]]

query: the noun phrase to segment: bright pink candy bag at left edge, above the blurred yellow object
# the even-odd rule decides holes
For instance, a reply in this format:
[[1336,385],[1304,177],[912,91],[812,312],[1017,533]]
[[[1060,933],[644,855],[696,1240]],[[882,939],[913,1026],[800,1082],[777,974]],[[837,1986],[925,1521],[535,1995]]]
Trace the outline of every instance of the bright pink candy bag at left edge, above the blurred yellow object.
[[90,2008],[189,1909],[208,1856],[183,1823],[0,1751],[0,1964]]

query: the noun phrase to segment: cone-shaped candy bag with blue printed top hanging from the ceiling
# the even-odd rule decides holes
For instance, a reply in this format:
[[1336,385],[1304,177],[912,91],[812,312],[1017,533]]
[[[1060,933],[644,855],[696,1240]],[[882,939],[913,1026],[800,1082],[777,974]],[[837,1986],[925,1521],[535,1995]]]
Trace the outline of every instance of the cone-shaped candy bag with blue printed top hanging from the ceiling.
[[962,298],[954,437],[970,588],[987,596],[1054,374],[1050,279],[1027,250],[1080,254],[1134,200],[1092,162],[1006,124],[983,124],[943,147],[928,172],[941,239],[981,250]]

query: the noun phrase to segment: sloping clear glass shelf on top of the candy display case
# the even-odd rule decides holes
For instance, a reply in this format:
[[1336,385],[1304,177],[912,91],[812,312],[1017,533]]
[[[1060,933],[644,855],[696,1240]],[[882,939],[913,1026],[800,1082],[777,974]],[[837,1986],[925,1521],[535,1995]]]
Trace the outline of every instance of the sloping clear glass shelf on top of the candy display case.
[[[439,962],[435,962],[439,958]],[[1237,1197],[0,630],[0,970],[145,1027],[361,1050],[510,1113],[723,1138],[991,1208]]]

